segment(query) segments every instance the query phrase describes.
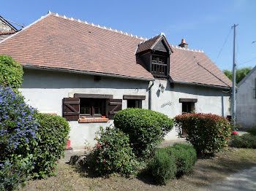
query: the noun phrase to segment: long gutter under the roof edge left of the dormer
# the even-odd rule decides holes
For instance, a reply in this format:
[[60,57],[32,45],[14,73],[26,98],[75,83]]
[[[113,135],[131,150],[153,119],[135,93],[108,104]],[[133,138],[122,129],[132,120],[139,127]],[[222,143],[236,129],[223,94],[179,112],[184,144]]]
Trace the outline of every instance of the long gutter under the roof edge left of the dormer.
[[61,72],[67,72],[67,73],[73,73],[73,74],[87,74],[87,75],[97,75],[101,77],[117,77],[121,79],[135,79],[135,80],[142,80],[142,81],[152,81],[154,79],[151,78],[143,78],[143,77],[129,77],[129,76],[123,76],[118,74],[107,74],[107,73],[100,73],[100,72],[94,72],[94,71],[80,71],[80,70],[72,70],[72,69],[56,69],[56,68],[50,68],[50,67],[42,67],[42,66],[32,66],[32,65],[25,65],[23,66],[24,69],[38,69],[38,70],[46,70],[46,71],[61,71]]

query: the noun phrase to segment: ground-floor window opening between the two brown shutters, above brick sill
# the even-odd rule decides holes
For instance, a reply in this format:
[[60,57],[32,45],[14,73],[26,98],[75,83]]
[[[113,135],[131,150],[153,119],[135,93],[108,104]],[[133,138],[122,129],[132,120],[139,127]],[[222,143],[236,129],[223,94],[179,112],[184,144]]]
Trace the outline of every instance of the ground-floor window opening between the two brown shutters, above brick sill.
[[80,98],[80,115],[86,117],[102,117],[106,115],[106,99]]

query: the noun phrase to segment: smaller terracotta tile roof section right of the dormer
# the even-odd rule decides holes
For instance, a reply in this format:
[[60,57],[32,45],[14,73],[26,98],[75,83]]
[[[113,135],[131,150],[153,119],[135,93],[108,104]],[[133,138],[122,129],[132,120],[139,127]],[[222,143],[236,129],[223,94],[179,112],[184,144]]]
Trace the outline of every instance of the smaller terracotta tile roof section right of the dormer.
[[204,52],[173,47],[170,77],[173,81],[232,87],[232,82]]

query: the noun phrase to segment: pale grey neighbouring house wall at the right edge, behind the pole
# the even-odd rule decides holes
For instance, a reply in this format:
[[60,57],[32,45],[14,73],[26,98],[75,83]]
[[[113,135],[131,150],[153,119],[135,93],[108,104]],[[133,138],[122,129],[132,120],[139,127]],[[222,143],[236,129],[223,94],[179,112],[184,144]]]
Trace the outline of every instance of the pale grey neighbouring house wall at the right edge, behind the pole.
[[243,128],[256,125],[256,66],[238,84],[236,119]]

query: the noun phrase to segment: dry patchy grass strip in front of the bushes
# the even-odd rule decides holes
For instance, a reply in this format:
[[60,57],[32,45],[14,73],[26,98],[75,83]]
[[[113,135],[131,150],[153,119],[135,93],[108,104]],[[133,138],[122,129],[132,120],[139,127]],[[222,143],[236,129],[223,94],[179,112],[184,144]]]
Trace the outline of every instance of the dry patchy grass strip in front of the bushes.
[[[256,166],[255,149],[227,149],[216,157],[200,158],[192,173],[174,179],[165,186],[155,184],[147,174],[126,179],[118,175],[91,177],[83,169],[59,163],[57,176],[31,180],[23,190],[200,190],[230,174]],[[78,171],[79,170],[79,171]]]

